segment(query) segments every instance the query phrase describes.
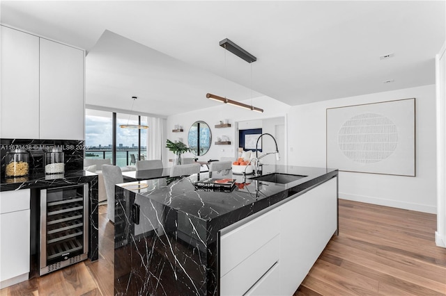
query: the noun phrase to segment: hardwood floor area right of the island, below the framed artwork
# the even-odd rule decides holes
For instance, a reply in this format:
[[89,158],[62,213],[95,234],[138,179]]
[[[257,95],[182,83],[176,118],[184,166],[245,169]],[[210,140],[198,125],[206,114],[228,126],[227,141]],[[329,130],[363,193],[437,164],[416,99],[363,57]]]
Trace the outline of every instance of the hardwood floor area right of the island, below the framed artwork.
[[298,295],[446,295],[436,215],[339,200],[333,236]]

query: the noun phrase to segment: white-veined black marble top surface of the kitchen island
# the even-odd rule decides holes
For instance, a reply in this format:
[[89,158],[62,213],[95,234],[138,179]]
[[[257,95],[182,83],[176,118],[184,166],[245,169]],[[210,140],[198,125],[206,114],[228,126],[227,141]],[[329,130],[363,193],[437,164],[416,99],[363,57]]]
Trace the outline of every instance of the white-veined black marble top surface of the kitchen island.
[[[298,192],[306,190],[322,181],[331,179],[337,175],[337,170],[318,167],[297,167],[285,165],[263,165],[262,175],[273,172],[305,176],[302,179],[286,184],[267,181],[254,181],[247,175],[213,173],[213,178],[236,179],[236,187],[230,192],[220,190],[199,189],[194,183],[208,177],[208,172],[183,178],[162,178],[133,183],[146,184],[144,189],[134,190],[137,195],[142,195],[169,206],[176,211],[187,213],[192,217],[206,222],[220,220],[217,229],[222,229],[233,222],[243,219],[253,213],[268,208],[272,204],[291,197]],[[245,182],[244,182],[245,181]],[[130,184],[125,183],[125,190],[132,190]],[[141,187],[141,186],[139,186]]]

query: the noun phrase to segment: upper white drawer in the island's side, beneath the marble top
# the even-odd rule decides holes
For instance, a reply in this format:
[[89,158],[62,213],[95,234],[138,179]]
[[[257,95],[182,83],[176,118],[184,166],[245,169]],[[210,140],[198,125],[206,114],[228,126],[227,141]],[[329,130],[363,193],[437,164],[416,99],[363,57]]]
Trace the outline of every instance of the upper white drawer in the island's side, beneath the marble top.
[[220,237],[220,277],[279,234],[279,211],[272,210]]

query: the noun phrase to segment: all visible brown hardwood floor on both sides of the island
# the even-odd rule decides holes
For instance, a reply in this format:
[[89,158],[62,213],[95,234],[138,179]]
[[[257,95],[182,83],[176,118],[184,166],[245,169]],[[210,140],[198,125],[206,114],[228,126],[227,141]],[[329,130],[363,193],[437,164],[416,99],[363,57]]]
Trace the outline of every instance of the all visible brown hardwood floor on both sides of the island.
[[[100,258],[0,290],[0,295],[113,295],[114,228],[100,206]],[[295,292],[300,295],[446,295],[446,249],[436,215],[339,200],[339,236]]]

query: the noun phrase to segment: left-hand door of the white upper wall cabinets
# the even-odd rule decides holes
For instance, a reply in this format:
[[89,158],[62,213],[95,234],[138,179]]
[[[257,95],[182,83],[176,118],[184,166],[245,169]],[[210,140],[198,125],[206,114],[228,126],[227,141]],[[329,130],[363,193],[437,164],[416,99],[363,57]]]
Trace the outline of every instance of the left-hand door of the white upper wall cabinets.
[[0,138],[39,138],[39,38],[1,28]]

